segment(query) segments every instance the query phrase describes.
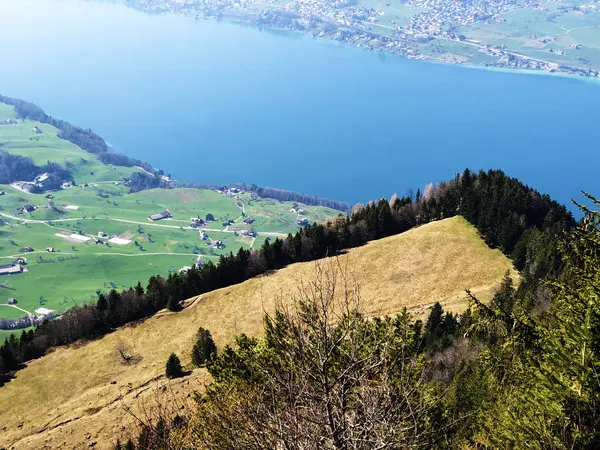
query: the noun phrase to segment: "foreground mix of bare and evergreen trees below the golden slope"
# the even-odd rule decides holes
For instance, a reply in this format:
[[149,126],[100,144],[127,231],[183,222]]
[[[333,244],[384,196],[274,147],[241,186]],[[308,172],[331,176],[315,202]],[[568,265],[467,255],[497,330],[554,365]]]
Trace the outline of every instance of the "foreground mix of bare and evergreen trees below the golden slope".
[[[488,304],[468,292],[460,317],[436,305],[424,324],[368,320],[352,279],[336,297],[333,273],[320,274],[265,317],[264,338],[209,357],[214,382],[196,411],[165,408],[115,448],[599,448],[600,201],[588,199],[560,234],[548,215],[514,240],[487,228],[527,277],[518,289],[506,277]],[[471,212],[519,229],[510,214]],[[552,259],[540,268],[536,253]]]

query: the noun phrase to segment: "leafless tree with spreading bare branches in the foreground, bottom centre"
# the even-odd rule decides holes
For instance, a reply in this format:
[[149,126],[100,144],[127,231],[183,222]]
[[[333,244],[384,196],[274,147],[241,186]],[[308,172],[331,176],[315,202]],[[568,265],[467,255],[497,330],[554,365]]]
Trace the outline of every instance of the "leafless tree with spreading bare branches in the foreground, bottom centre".
[[[217,375],[190,425],[212,449],[426,448],[435,430],[410,316],[368,320],[337,261],[316,264],[290,302],[265,319],[265,342],[242,346],[244,376]],[[227,350],[226,350],[227,352]],[[429,395],[431,394],[431,395]]]

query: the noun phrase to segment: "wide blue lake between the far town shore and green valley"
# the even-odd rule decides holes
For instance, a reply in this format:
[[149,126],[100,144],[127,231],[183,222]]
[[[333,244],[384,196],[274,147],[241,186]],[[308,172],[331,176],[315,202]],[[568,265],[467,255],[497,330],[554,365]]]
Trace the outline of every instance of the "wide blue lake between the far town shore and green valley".
[[0,0],[0,93],[181,180],[366,201],[502,168],[600,195],[600,83],[75,0]]

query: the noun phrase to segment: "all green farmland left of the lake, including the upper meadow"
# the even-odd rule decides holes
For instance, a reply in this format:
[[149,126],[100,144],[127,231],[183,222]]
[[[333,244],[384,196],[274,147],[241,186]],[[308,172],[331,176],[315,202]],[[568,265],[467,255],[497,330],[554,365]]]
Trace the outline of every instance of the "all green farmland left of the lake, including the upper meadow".
[[[15,118],[13,107],[0,104],[0,120]],[[38,127],[42,133],[35,132]],[[0,125],[0,146],[9,153],[31,157],[38,165],[47,161],[69,168],[77,184],[57,192],[28,194],[12,186],[0,185],[0,264],[27,258],[27,272],[0,277],[0,305],[14,297],[19,306],[33,313],[44,307],[62,312],[74,305],[89,303],[97,291],[123,289],[151,275],[167,276],[199,259],[216,261],[220,255],[236,252],[240,247],[257,248],[267,234],[256,239],[244,238],[239,232],[254,229],[273,233],[271,237],[296,232],[298,219],[306,217],[321,222],[339,211],[304,206],[299,216],[290,210],[291,202],[261,199],[242,194],[232,197],[211,190],[153,189],[129,193],[123,178],[134,168],[104,165],[95,155],[57,137],[52,126],[32,121]],[[36,210],[22,213],[21,208],[34,205]],[[148,216],[168,209],[172,219],[150,222]],[[255,219],[250,227],[243,223],[242,210]],[[208,235],[202,240],[197,230],[189,228],[191,217],[215,218],[203,228]],[[223,222],[236,223],[224,227]],[[99,232],[131,241],[127,245],[97,245]],[[60,235],[60,236],[57,236]],[[75,240],[71,235],[87,238]],[[106,239],[104,239],[106,240]],[[207,244],[222,241],[224,249]],[[20,249],[32,247],[33,253]],[[52,247],[55,252],[48,253]],[[0,308],[0,318],[14,318],[12,309]]]

